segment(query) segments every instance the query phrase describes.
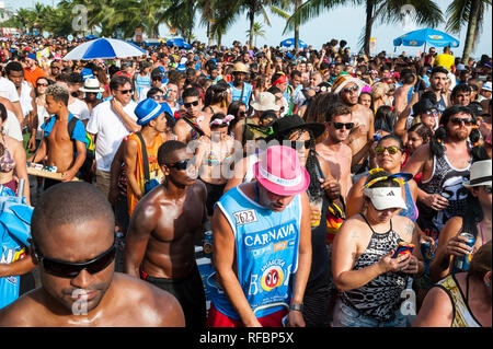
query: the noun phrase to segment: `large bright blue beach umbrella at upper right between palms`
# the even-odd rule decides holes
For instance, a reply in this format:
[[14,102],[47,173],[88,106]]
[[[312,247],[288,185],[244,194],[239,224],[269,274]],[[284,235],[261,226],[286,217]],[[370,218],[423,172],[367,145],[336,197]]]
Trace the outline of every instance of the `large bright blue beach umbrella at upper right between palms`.
[[393,46],[403,45],[420,47],[426,44],[436,47],[458,47],[460,42],[447,33],[432,28],[413,31],[401,35],[393,40]]

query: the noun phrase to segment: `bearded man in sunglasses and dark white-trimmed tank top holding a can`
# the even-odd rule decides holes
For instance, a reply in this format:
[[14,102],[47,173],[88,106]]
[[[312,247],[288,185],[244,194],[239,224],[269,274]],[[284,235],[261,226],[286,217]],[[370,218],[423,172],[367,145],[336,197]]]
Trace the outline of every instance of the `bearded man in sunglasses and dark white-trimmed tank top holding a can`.
[[465,211],[468,191],[462,182],[469,177],[472,152],[479,150],[468,142],[475,121],[468,107],[454,105],[445,109],[429,143],[420,147],[402,168],[413,175],[423,173],[416,222],[435,240],[449,218]]

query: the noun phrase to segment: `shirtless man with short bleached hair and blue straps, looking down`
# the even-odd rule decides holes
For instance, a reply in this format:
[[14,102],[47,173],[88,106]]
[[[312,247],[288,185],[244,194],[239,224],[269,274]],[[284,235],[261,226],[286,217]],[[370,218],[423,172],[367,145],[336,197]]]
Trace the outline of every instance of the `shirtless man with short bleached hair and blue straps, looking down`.
[[[47,155],[47,165],[57,167],[62,182],[72,181],[85,160],[85,129],[82,121],[77,120],[72,135],[68,133],[68,124],[74,117],[68,109],[68,100],[69,92],[61,85],[54,84],[46,90],[46,110],[50,115],[55,114],[55,117],[43,125],[41,146],[27,160],[41,162]],[[45,179],[45,188],[57,183]]]

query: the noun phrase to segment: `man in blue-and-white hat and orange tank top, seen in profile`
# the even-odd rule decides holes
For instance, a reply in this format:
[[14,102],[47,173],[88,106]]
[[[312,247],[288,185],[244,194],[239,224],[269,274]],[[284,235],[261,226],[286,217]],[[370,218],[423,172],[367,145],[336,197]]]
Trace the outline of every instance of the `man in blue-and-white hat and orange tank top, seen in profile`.
[[170,128],[165,116],[168,110],[152,98],[144,100],[135,108],[137,124],[141,129],[128,136],[124,148],[128,216],[131,216],[139,199],[163,181],[158,164],[158,149],[165,141],[162,133]]

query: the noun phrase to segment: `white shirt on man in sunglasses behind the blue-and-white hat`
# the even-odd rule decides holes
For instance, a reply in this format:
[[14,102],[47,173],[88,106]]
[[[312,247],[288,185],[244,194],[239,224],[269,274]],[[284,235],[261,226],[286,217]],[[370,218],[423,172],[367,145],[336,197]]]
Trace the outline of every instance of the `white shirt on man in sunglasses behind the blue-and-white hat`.
[[[134,113],[136,106],[137,103],[134,101],[124,106],[124,112],[134,120],[137,120]],[[96,168],[110,172],[113,158],[115,158],[122,140],[130,133],[121,117],[113,112],[111,101],[100,103],[92,109],[92,116],[85,130],[98,136],[95,142]]]

